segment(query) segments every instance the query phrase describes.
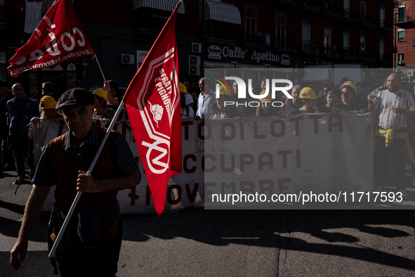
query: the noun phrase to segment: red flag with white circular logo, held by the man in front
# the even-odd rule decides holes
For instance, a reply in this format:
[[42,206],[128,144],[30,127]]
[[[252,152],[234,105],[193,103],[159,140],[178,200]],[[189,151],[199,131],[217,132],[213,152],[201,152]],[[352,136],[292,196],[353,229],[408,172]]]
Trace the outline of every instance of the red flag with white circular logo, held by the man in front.
[[180,89],[174,26],[179,2],[124,96],[157,214],[169,178],[182,171]]

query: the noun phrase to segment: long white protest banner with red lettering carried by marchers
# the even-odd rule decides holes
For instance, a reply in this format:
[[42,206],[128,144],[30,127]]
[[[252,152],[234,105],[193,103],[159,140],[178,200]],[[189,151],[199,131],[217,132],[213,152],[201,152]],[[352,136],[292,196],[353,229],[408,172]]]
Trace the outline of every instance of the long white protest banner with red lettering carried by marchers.
[[[204,207],[212,193],[331,193],[371,191],[373,183],[371,114],[295,115],[247,121],[182,119],[183,172],[167,188],[164,212]],[[106,120],[98,125],[109,125]],[[129,143],[143,174],[141,183],[119,191],[123,214],[155,213],[129,122],[114,129]],[[62,119],[34,124],[34,157],[68,129]],[[204,190],[205,189],[205,190]],[[51,210],[53,191],[44,210]],[[209,208],[237,208],[206,202]],[[239,208],[252,207],[239,205]],[[269,207],[268,207],[269,208]]]

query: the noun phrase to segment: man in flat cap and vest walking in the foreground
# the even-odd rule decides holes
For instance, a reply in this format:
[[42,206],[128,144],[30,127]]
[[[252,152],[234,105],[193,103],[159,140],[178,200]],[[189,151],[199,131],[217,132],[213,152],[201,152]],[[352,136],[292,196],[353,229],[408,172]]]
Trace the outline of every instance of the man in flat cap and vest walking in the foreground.
[[37,165],[11,250],[10,263],[16,270],[25,259],[30,229],[55,185],[49,247],[75,195],[83,192],[54,255],[60,276],[114,276],[117,272],[122,240],[117,192],[136,186],[141,174],[129,145],[117,131],[110,132],[93,171],[86,174],[107,131],[93,123],[93,104],[93,95],[86,89],[70,89],[59,98],[56,110],[62,111],[69,131],[48,143]]

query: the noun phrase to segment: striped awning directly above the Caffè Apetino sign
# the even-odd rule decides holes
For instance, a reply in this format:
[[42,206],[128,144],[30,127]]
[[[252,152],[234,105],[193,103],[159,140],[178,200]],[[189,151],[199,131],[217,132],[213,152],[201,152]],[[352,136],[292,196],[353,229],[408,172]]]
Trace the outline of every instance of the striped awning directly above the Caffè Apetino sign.
[[241,24],[241,14],[236,6],[211,0],[199,0],[199,21],[202,21],[202,1],[204,2],[204,20]]

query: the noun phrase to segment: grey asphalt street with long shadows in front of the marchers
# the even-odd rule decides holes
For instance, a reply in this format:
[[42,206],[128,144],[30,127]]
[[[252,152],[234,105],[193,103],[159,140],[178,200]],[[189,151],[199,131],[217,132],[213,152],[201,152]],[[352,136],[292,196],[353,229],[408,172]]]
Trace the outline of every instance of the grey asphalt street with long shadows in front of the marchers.
[[[19,271],[8,264],[29,182],[0,179],[0,277],[55,276],[49,212],[41,212]],[[415,276],[415,186],[391,210],[204,210],[124,216],[117,276]]]

